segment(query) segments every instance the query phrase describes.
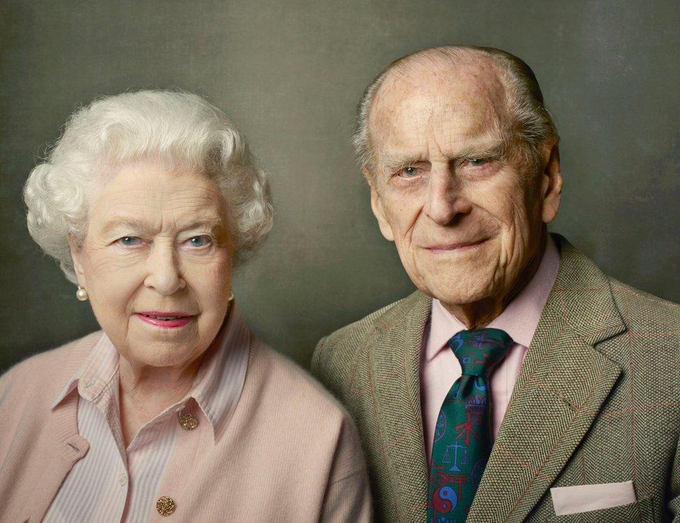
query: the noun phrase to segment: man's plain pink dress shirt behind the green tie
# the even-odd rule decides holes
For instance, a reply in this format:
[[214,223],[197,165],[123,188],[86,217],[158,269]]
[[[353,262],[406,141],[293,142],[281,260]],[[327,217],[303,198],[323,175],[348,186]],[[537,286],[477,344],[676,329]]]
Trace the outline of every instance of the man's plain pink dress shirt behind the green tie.
[[[539,324],[548,294],[555,283],[558,267],[559,252],[548,235],[541,264],[532,279],[487,326],[500,328],[515,342],[490,377],[491,427],[494,438],[505,416],[512,389]],[[465,325],[448,312],[439,300],[433,299],[430,321],[423,336],[424,347],[420,364],[420,395],[428,457],[432,453],[432,440],[442,402],[454,381],[461,377],[461,364],[447,346],[449,339],[460,331],[465,331]]]

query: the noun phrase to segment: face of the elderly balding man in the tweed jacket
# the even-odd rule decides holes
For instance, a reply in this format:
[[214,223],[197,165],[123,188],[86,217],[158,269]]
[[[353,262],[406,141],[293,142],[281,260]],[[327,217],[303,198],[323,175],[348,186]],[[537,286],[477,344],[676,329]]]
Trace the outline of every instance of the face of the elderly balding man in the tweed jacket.
[[550,148],[528,172],[508,124],[504,86],[483,67],[393,72],[371,111],[373,211],[414,284],[445,305],[507,296],[557,213]]

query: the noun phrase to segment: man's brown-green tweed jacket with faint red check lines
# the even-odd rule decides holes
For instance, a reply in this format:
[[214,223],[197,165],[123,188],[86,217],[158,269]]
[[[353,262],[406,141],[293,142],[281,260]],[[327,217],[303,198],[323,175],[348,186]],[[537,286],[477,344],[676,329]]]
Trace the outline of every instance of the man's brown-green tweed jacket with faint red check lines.
[[[603,274],[561,236],[557,279],[468,522],[680,522],[680,306]],[[348,407],[378,520],[425,522],[415,292],[321,340],[312,371]],[[633,481],[637,501],[555,515],[551,487]]]

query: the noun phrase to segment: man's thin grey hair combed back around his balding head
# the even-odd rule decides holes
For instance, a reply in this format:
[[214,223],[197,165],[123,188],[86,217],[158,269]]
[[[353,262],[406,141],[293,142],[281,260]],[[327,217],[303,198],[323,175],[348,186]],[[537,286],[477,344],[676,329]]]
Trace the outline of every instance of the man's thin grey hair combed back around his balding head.
[[376,168],[376,153],[371,143],[369,116],[376,98],[376,93],[385,82],[385,78],[393,70],[408,66],[411,61],[424,56],[441,56],[456,61],[470,59],[474,56],[486,56],[493,60],[503,75],[506,86],[508,112],[511,118],[510,134],[523,145],[525,162],[530,170],[534,170],[541,158],[541,146],[546,142],[559,142],[553,117],[543,103],[543,93],[536,80],[534,71],[517,56],[493,47],[475,47],[472,45],[449,45],[433,47],[417,51],[396,59],[385,68],[364,91],[364,96],[357,108],[354,133],[354,145],[357,160],[362,172],[372,179]]

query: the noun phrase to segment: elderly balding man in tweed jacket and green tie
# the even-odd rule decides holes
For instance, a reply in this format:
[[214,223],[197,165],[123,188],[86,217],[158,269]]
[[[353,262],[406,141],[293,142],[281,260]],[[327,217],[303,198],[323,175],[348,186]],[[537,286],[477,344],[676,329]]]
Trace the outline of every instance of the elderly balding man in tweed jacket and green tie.
[[380,520],[680,517],[680,308],[548,234],[557,142],[500,50],[417,52],[364,94],[371,206],[418,290],[312,368],[357,420]]

